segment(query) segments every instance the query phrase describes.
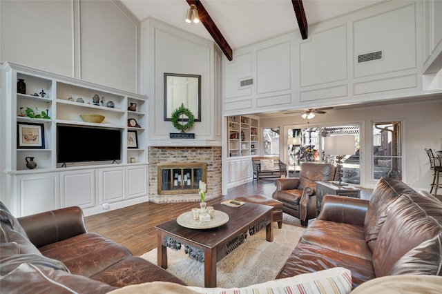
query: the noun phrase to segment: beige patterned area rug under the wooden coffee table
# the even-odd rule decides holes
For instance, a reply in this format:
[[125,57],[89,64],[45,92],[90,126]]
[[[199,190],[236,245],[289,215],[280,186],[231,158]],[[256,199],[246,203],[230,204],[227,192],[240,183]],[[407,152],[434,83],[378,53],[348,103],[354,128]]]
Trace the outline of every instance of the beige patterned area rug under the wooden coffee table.
[[[273,223],[273,242],[265,240],[265,230],[247,235],[246,241],[217,264],[218,287],[249,286],[273,280],[291,254],[305,228]],[[142,258],[157,264],[157,249],[144,253]],[[167,248],[167,271],[189,286],[204,286],[204,264],[190,259],[184,248]]]

